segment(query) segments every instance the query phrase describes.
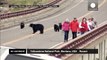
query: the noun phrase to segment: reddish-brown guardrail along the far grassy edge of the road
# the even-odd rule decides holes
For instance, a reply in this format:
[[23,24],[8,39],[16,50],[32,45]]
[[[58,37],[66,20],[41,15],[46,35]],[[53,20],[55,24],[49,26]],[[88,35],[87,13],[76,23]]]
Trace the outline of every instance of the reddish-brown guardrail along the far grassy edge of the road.
[[[54,5],[54,4],[56,4],[56,3],[60,2],[60,1],[62,1],[62,0],[55,0],[53,2],[50,2],[47,5]],[[37,8],[29,9],[29,10],[24,10],[24,11],[0,14],[0,20],[6,19],[6,18],[11,18],[11,17],[16,17],[16,16],[21,16],[21,15],[26,15],[26,14],[29,14],[29,13],[40,11],[40,10],[45,9],[45,8],[47,8],[47,7],[40,7],[40,8],[37,7]]]

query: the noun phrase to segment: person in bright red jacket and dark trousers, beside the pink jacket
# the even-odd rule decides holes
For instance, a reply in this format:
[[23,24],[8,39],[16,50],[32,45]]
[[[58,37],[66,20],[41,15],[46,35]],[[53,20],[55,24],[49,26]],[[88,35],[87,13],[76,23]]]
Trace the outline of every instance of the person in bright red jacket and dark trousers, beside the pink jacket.
[[73,39],[76,38],[77,37],[78,29],[79,29],[79,23],[78,23],[78,20],[76,18],[74,18],[74,20],[71,21],[70,29],[72,31],[72,38]]

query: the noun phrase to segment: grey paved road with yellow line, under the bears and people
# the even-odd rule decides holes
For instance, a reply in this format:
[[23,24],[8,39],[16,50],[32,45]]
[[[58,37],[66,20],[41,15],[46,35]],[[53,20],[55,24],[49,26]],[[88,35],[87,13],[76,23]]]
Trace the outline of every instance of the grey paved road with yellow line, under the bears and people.
[[[81,21],[82,17],[94,17],[100,24],[107,20],[107,0],[99,0],[98,11],[88,11],[87,0],[74,0],[71,6],[68,6],[64,11],[58,12],[53,16],[35,21],[33,23],[41,23],[45,26],[44,34],[32,34],[32,29],[29,23],[24,29],[19,26],[0,31],[0,42],[3,46],[15,48],[51,48],[63,43],[63,31],[54,32],[53,25],[63,22],[66,18],[72,20],[77,17]],[[71,32],[69,38],[71,39]]]

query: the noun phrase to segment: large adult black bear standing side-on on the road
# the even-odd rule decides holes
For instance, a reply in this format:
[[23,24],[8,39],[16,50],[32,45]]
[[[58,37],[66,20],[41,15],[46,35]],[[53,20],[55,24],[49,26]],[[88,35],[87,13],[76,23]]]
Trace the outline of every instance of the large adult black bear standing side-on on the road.
[[42,24],[30,24],[30,27],[33,29],[33,34],[37,31],[40,31],[40,34],[44,33],[44,26]]

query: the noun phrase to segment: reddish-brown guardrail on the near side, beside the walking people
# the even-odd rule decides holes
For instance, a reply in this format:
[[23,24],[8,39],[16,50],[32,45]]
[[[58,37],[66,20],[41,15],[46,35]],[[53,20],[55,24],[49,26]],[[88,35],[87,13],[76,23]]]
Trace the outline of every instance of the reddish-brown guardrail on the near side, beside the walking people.
[[[69,41],[65,44],[62,44],[61,46],[58,46],[54,49],[76,49],[83,45],[85,45],[87,42],[90,42],[95,37],[99,36],[100,34],[107,34],[107,21],[102,23],[100,26],[96,27],[92,31],[88,32],[87,34],[84,34],[82,37],[78,37],[74,39],[74,41]],[[62,58],[66,56],[65,54],[50,54],[51,56],[55,56],[58,58]]]

